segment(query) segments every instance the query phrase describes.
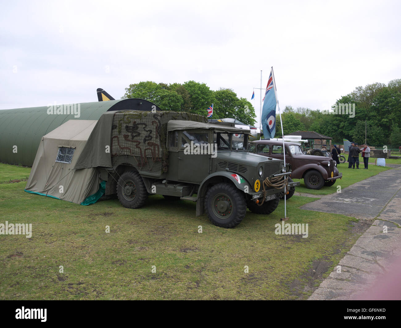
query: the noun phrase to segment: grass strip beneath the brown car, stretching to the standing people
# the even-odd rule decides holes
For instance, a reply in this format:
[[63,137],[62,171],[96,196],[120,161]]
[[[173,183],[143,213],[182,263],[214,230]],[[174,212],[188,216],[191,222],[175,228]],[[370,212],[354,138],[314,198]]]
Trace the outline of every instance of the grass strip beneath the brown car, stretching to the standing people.
[[[386,159],[387,163],[388,159]],[[401,161],[400,161],[401,164]],[[312,195],[329,195],[331,193],[335,193],[337,191],[337,186],[341,186],[341,188],[348,187],[356,182],[362,181],[366,178],[372,177],[380,172],[386,171],[390,169],[389,167],[376,166],[369,163],[369,169],[363,169],[363,160],[359,164],[359,170],[357,169],[348,169],[348,162],[338,164],[338,171],[342,173],[342,179],[337,179],[336,183],[331,187],[323,187],[319,190],[308,189],[305,187],[304,179],[294,179],[294,181],[300,181],[301,185],[296,187],[295,190],[300,193],[310,193]]]

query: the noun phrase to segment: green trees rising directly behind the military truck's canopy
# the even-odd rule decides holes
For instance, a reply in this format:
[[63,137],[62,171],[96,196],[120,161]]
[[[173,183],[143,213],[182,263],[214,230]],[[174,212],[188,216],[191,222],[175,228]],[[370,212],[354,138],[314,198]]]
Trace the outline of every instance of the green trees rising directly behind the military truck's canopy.
[[232,117],[255,125],[255,109],[245,98],[238,98],[232,89],[211,90],[205,83],[155,83],[143,81],[125,89],[122,99],[141,98],[156,104],[162,111],[185,111],[207,116],[213,104],[213,119]]

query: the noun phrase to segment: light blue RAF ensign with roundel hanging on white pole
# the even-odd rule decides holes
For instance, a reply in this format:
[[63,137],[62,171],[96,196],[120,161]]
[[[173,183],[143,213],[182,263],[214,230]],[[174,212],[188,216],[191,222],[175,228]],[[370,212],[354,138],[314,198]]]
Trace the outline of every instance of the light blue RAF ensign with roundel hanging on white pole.
[[273,69],[271,69],[269,80],[267,81],[265,97],[263,98],[262,117],[261,117],[263,137],[265,139],[274,138],[275,135],[276,105],[277,101],[274,92]]

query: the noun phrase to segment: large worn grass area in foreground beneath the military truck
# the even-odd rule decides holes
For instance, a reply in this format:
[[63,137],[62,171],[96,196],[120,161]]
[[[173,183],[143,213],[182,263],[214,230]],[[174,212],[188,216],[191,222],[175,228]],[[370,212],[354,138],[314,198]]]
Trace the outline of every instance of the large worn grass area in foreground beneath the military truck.
[[[0,181],[22,177],[26,171],[1,166]],[[26,193],[25,185],[0,184],[0,223],[32,223],[31,238],[0,235],[2,300],[305,299],[359,236],[350,217],[299,209],[308,197],[287,202],[286,223],[308,223],[302,238],[275,234],[282,201],[271,215],[248,211],[224,229],[196,217],[190,201],[152,195],[141,209],[116,199],[82,206]]]

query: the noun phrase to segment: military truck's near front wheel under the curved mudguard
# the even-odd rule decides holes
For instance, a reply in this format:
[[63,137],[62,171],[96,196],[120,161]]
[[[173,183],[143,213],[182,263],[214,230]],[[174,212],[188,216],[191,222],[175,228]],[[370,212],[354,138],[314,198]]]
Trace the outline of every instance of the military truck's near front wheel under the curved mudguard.
[[214,225],[236,227],[247,211],[245,196],[230,183],[217,183],[206,193],[205,211]]

